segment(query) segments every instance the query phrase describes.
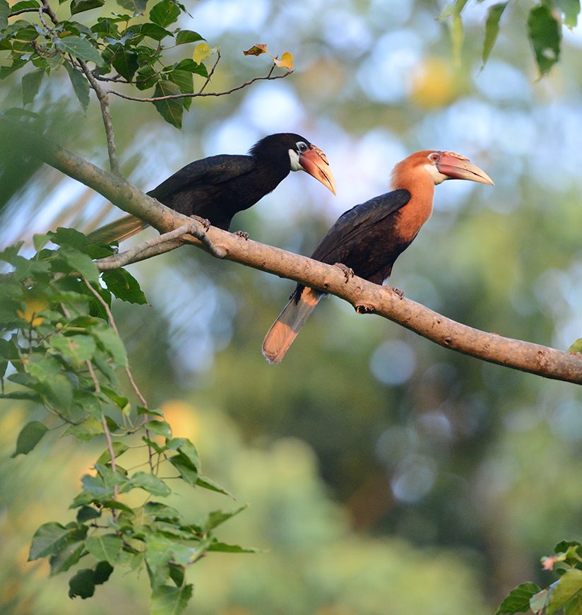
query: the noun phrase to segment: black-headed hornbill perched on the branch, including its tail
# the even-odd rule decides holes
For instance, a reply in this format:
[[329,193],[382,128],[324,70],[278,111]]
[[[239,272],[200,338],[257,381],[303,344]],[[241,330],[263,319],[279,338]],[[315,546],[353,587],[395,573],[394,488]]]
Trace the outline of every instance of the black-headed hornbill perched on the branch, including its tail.
[[[221,154],[195,160],[168,177],[148,194],[186,216],[206,218],[228,230],[238,211],[249,209],[274,190],[291,171],[306,171],[335,194],[326,155],[299,134],[270,134],[247,156]],[[148,224],[124,216],[88,236],[110,243],[135,235]]]

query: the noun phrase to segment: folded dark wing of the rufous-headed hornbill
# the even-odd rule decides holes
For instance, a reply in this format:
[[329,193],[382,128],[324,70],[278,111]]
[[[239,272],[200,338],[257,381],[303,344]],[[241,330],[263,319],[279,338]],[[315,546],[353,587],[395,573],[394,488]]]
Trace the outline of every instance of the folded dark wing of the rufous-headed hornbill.
[[328,230],[311,258],[328,264],[342,262],[344,252],[350,251],[350,246],[357,238],[365,237],[370,229],[401,209],[408,201],[408,190],[394,190],[348,209]]

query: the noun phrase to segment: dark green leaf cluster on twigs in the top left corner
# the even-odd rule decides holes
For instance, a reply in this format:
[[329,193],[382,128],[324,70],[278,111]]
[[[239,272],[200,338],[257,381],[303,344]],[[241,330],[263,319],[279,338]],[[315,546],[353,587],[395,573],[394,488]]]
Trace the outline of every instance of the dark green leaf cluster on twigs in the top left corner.
[[[11,7],[6,0],[0,0],[0,52],[6,52],[10,62],[0,67],[0,79],[32,64],[34,69],[22,81],[23,104],[28,105],[40,90],[43,77],[64,68],[83,110],[90,100],[87,63],[95,66],[91,69],[95,80],[131,84],[138,90],[150,90],[153,98],[194,93],[194,75],[208,77],[204,57],[196,55],[194,49],[194,53],[178,61],[165,58],[169,49],[204,40],[194,30],[176,26],[182,13],[186,13],[184,6],[161,0],[144,18],[146,0],[117,2],[121,12],[85,25],[76,21],[78,13],[99,8],[105,0],[60,2],[59,13],[69,13],[61,20],[39,0],[22,0]],[[19,11],[35,19],[24,19]],[[13,21],[15,16],[18,18]],[[153,104],[167,122],[179,128],[191,98],[158,100]]]

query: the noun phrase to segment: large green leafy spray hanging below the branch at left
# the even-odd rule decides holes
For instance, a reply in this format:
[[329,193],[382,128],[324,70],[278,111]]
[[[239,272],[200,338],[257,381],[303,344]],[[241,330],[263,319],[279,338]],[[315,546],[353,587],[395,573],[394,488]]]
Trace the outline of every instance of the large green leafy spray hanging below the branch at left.
[[[59,247],[45,247],[49,241]],[[129,303],[144,303],[145,296],[127,271],[100,281],[92,259],[112,250],[76,230],[35,236],[35,247],[30,259],[18,253],[18,245],[0,253],[12,269],[4,275],[0,298],[0,397],[27,399],[49,413],[47,420],[22,428],[13,456],[28,454],[50,430],[81,441],[105,435],[107,447],[95,460],[95,472],[81,479],[70,507],[77,510],[76,521],[41,525],[28,559],[49,558],[52,575],[90,560],[69,580],[69,597],[83,599],[93,596],[114,568],[145,567],[152,612],[182,612],[192,594],[186,566],[212,551],[253,551],[215,537],[215,528],[244,507],[215,510],[192,524],[158,501],[172,494],[174,479],[228,493],[203,476],[194,444],[172,437],[162,413],[148,409],[133,383],[110,305],[112,296]],[[135,406],[122,392],[117,370],[133,385]],[[140,450],[141,460],[121,467],[118,459],[130,449]],[[145,492],[141,503],[124,502],[123,496],[136,490]]]

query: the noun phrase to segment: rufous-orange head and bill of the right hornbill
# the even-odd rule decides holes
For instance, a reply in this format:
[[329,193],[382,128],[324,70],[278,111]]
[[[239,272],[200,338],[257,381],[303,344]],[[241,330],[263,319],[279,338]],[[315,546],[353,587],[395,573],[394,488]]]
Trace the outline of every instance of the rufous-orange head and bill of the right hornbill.
[[438,150],[417,151],[398,163],[393,170],[391,185],[395,189],[405,188],[405,184],[414,181],[413,176],[418,178],[419,173],[427,173],[434,185],[445,180],[470,180],[494,185],[491,177],[465,156]]

